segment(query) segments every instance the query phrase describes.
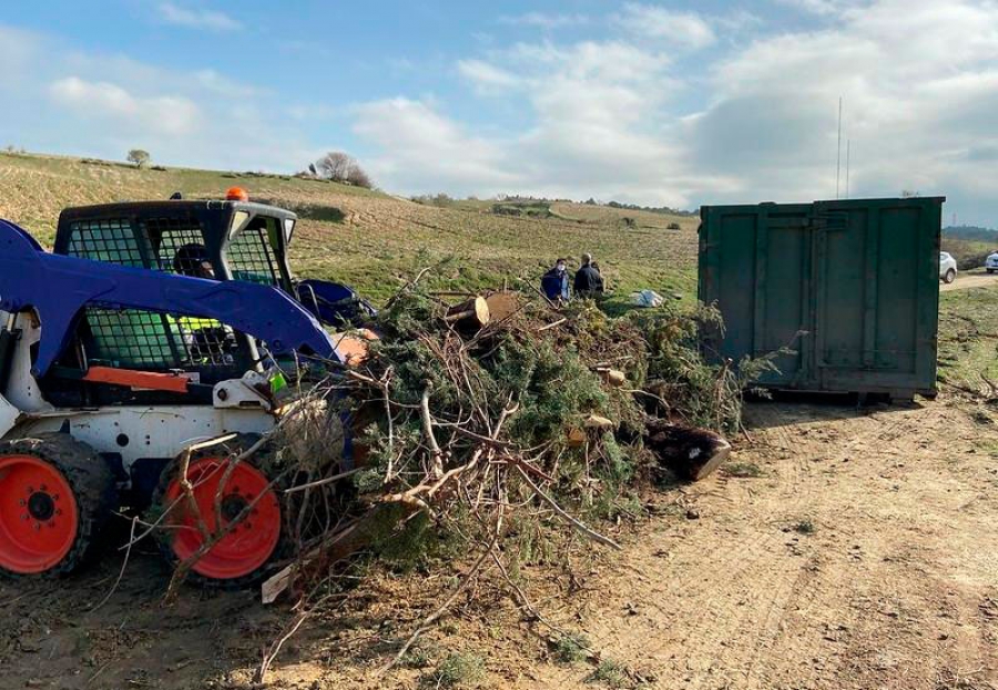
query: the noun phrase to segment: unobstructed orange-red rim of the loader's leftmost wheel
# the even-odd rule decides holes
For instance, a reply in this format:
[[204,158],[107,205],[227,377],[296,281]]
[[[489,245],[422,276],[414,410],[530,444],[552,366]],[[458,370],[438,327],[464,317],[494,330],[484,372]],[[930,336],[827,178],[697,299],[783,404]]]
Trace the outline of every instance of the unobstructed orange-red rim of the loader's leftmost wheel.
[[55,567],[79,526],[73,490],[54,465],[33,455],[0,456],[0,567],[26,575]]

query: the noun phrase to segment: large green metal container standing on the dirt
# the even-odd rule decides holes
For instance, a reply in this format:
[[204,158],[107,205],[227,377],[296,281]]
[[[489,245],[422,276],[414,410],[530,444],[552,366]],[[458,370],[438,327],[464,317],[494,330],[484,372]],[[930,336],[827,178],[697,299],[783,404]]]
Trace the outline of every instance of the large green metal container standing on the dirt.
[[934,397],[943,202],[702,207],[700,299],[724,317],[704,351],[785,350],[772,389]]

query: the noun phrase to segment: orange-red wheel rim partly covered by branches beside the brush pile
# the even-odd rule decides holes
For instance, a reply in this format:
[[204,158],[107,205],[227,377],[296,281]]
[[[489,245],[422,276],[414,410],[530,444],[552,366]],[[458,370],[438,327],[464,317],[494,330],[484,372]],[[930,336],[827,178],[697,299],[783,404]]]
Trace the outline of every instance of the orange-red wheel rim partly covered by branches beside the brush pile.
[[[210,536],[238,521],[192,569],[212,579],[234,579],[264,565],[281,539],[281,504],[267,477],[247,463],[238,463],[230,471],[228,460],[204,457],[191,463],[187,480],[194,487],[194,502]],[[217,511],[216,496],[221,497]],[[173,553],[182,562],[194,556],[205,543],[197,512],[189,504],[180,481],[174,478],[166,488],[165,507],[173,506],[169,518],[174,531]]]

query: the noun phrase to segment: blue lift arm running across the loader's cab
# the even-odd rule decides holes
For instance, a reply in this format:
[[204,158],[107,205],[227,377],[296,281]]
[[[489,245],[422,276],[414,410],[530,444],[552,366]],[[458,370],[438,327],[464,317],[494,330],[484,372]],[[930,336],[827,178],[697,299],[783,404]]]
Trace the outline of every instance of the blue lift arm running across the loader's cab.
[[54,255],[0,220],[0,310],[33,308],[42,323],[33,375],[44,375],[61,356],[86,306],[214,319],[265,342],[274,356],[344,359],[318,321],[277,288]]

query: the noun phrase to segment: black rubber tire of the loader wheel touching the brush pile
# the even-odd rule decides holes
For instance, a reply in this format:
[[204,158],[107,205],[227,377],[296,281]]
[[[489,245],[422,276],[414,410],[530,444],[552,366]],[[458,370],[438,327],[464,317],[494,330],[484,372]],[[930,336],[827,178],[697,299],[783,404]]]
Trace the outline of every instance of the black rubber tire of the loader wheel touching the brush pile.
[[[235,439],[226,443],[222,443],[210,449],[204,449],[202,451],[195,451],[191,454],[191,460],[195,461],[202,457],[217,457],[220,455],[228,455],[231,453],[241,453],[248,450],[257,441],[259,441],[259,435],[257,434],[238,434]],[[245,460],[243,462],[259,470],[261,464],[266,464],[266,461],[271,460],[272,457],[273,447],[272,444],[268,443],[254,454],[252,462],[249,460]],[[170,487],[170,483],[174,480],[180,470],[180,457],[173,459],[160,474],[160,481],[156,484],[155,492],[153,492],[151,504],[151,509],[156,516],[162,515],[162,512],[166,508],[166,506],[164,505],[164,497],[166,495],[166,490]],[[287,539],[287,525],[284,521],[285,501],[281,495],[281,490],[285,487],[286,486],[283,483],[275,486],[275,490],[278,492],[277,500],[281,505],[282,514],[281,537],[277,540],[277,545],[274,547],[274,553],[271,554],[271,557],[266,563],[264,563],[261,567],[258,567],[253,573],[249,573],[248,575],[228,579],[215,579],[212,577],[205,577],[204,575],[196,573],[194,569],[191,569],[190,573],[187,573],[186,581],[204,589],[225,590],[245,589],[262,581],[264,577],[266,577],[274,568],[274,563],[285,557],[289,550],[289,544]],[[176,553],[174,553],[173,550],[171,532],[169,529],[155,529],[153,534],[156,536],[156,542],[160,546],[160,553],[163,554],[163,557],[166,559],[166,563],[170,565],[172,570],[179,565],[179,559],[176,557]]]

